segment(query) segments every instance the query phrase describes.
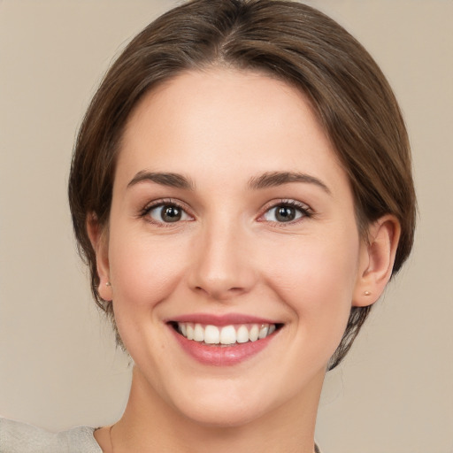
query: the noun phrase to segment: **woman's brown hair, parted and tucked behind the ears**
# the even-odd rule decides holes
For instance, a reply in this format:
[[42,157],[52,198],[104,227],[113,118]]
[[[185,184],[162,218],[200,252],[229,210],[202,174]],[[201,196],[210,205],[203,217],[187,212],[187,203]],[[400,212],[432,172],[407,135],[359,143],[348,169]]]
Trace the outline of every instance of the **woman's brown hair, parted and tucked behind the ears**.
[[[113,326],[111,303],[97,292],[88,215],[108,226],[119,141],[134,105],[158,83],[209,65],[265,72],[309,96],[349,175],[360,233],[365,237],[366,226],[387,213],[400,221],[398,271],[411,251],[415,194],[402,114],[378,65],[346,30],[305,4],[193,0],[166,12],[127,45],[89,105],[73,152],[73,227],[96,303]],[[346,355],[370,309],[352,308],[329,369]]]

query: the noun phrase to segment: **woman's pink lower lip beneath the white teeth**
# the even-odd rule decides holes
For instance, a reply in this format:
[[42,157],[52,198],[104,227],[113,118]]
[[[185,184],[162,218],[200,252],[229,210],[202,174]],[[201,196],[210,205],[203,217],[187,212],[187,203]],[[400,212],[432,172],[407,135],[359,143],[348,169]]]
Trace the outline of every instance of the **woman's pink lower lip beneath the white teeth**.
[[231,366],[237,365],[249,358],[256,356],[258,352],[265,349],[275,334],[265,337],[256,342],[236,343],[232,346],[211,346],[202,342],[188,340],[185,336],[178,334],[172,326],[170,328],[182,349],[189,356],[196,359],[203,365]]

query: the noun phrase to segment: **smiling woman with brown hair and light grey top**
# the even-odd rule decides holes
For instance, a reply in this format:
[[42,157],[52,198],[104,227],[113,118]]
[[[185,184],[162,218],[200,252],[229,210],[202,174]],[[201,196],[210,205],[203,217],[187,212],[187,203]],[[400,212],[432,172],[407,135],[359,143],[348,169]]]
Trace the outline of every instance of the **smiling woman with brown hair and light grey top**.
[[97,91],[69,196],[134,376],[116,424],[60,436],[117,453],[314,451],[326,369],[413,238],[403,119],[360,44],[303,4],[166,13]]

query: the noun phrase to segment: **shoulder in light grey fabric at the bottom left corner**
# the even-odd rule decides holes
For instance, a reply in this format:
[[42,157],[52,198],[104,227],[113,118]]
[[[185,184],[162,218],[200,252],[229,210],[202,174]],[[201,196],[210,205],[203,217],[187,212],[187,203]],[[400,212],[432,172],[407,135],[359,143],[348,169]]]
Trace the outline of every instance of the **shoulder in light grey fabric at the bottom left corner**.
[[78,426],[50,433],[36,426],[0,418],[2,453],[102,453],[93,436],[94,428]]

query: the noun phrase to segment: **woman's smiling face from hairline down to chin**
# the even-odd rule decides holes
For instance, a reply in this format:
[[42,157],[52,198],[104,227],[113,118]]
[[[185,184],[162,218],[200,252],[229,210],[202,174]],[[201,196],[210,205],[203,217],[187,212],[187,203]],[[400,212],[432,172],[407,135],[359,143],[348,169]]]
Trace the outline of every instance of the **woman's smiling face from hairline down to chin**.
[[347,176],[295,88],[183,73],[131,114],[100,291],[141,385],[175,412],[232,426],[319,393],[363,247]]

